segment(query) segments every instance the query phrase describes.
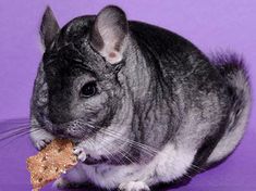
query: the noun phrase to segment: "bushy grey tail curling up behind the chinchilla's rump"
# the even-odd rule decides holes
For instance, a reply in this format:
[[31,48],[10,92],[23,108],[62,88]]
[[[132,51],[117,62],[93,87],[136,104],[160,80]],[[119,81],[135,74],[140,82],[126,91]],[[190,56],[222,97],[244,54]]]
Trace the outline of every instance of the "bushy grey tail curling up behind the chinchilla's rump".
[[243,60],[236,54],[217,54],[211,62],[230,85],[233,107],[229,117],[229,128],[208,158],[208,163],[218,162],[232,153],[243,137],[251,111],[249,80]]

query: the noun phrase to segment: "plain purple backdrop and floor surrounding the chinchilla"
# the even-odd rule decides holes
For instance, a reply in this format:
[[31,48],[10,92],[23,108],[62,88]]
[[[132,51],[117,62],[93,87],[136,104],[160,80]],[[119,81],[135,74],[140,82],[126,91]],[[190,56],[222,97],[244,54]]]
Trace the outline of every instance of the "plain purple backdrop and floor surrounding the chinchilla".
[[[204,52],[232,50],[242,53],[256,87],[255,0],[1,0],[0,1],[0,120],[27,117],[32,87],[40,61],[39,21],[50,4],[63,26],[74,16],[95,14],[107,4],[123,8],[130,20],[173,30]],[[254,103],[255,104],[255,103]],[[220,166],[196,176],[179,191],[255,191],[255,106],[248,130],[236,152]],[[0,128],[12,128],[1,123]],[[1,138],[1,137],[0,137]],[[25,158],[35,153],[28,138],[0,142],[0,191],[31,190]],[[47,187],[44,191],[53,190]],[[174,189],[175,190],[175,189]]]

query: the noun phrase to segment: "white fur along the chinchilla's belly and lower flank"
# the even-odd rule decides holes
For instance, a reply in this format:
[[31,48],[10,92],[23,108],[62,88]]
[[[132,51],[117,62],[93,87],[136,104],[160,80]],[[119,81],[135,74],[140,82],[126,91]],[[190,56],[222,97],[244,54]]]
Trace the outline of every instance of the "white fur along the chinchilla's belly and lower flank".
[[[157,182],[167,182],[183,176],[191,166],[196,152],[188,152],[176,149],[172,144],[167,144],[154,160],[144,165],[132,164],[123,166],[80,165],[80,177],[87,177],[95,184],[102,188],[117,188],[122,182],[141,180],[148,186]],[[83,170],[81,170],[83,168]],[[83,171],[83,175],[82,175]],[[74,173],[73,173],[74,174]],[[74,177],[72,178],[74,179]],[[84,178],[85,179],[85,178]]]

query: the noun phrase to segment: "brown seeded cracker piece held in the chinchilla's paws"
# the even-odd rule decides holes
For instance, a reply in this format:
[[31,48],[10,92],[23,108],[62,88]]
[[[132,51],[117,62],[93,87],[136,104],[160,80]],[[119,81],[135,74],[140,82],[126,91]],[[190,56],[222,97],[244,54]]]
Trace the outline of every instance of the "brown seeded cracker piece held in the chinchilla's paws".
[[26,161],[31,171],[33,191],[39,191],[48,182],[56,180],[68,169],[77,164],[73,154],[73,143],[56,139],[36,155]]

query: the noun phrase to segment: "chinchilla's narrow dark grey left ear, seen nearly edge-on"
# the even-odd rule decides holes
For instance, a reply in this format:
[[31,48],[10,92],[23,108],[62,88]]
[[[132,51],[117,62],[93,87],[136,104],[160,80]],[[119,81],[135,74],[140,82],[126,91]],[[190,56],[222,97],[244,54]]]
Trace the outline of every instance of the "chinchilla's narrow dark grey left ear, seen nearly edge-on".
[[54,39],[59,30],[59,24],[51,9],[50,7],[47,7],[40,26],[40,38],[45,49],[48,49],[50,47],[52,40]]

